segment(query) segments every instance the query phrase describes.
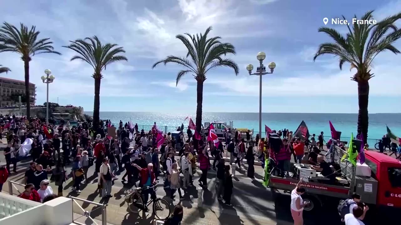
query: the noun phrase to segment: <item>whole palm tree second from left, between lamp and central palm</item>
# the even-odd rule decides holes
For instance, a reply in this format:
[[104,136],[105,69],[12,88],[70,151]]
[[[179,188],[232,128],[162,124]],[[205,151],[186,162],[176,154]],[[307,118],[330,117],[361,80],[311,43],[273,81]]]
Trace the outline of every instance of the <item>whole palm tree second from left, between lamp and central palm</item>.
[[119,53],[125,52],[123,47],[116,46],[117,44],[101,44],[97,36],[70,41],[69,46],[63,46],[78,53],[78,55],[71,58],[71,61],[75,59],[83,60],[89,63],[95,70],[92,74],[93,79],[95,79],[95,100],[93,103],[93,126],[95,128],[99,124],[100,81],[101,78],[103,78],[101,72],[103,69],[106,69],[107,65],[113,62],[121,60],[128,61],[125,56],[118,55]]

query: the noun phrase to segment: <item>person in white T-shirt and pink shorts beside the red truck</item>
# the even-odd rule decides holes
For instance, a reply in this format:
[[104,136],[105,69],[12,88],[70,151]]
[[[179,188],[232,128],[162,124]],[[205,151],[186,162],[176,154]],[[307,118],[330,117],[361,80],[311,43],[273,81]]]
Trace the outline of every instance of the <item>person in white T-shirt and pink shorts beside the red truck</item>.
[[294,190],[291,191],[291,215],[294,219],[294,225],[303,225],[304,218],[302,217],[302,211],[304,206],[309,204],[309,201],[303,201],[301,195],[305,193],[305,188],[301,187],[302,178],[298,182]]

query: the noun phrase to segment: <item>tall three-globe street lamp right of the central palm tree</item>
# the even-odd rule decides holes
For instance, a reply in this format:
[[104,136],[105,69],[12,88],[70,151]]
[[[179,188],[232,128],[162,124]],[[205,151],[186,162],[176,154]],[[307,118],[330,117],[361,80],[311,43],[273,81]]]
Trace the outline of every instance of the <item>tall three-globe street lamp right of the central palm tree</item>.
[[256,58],[257,58],[257,60],[259,60],[259,67],[256,68],[256,72],[252,73],[252,70],[253,70],[252,64],[247,65],[247,70],[249,72],[249,75],[259,76],[259,138],[261,138],[262,137],[262,76],[273,73],[273,70],[275,68],[275,63],[270,62],[269,66],[268,66],[270,69],[270,72],[266,72],[266,67],[263,66],[263,60],[266,58],[266,53],[259,52],[257,54]]

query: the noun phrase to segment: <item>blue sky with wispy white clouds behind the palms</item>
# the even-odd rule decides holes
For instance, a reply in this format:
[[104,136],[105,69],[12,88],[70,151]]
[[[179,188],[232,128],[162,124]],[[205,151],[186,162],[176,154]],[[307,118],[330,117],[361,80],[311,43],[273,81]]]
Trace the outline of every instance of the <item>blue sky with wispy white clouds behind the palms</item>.
[[[221,36],[237,50],[229,56],[240,74],[217,68],[209,71],[204,86],[203,111],[258,112],[259,78],[245,66],[258,64],[256,54],[266,52],[265,65],[274,61],[273,74],[263,77],[263,112],[357,113],[357,85],[350,80],[356,70],[338,60],[312,57],[330,39],[317,30],[323,18],[344,15],[351,19],[376,10],[377,20],[401,12],[399,1],[320,0],[13,0],[2,2],[0,21],[16,26],[35,25],[41,38],[51,38],[61,56],[40,54],[30,63],[30,82],[37,86],[37,103],[46,99],[40,77],[49,68],[56,76],[49,100],[93,110],[93,69],[69,59],[72,50],[62,48],[69,40],[97,35],[103,42],[124,46],[128,62],[107,67],[101,81],[101,111],[195,112],[196,83],[191,74],[175,85],[175,65],[154,62],[169,54],[185,56],[176,34],[204,32]],[[327,26],[346,32],[344,25]],[[401,48],[401,40],[395,44]],[[401,112],[401,56],[384,52],[375,58],[370,82],[369,112]],[[1,53],[0,64],[12,72],[2,74],[24,79],[23,62],[16,53]]]

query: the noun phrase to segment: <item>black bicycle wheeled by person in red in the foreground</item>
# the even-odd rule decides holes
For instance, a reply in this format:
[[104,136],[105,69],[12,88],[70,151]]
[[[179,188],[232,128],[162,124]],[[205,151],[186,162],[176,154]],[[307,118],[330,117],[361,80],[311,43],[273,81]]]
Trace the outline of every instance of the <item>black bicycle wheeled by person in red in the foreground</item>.
[[[148,202],[145,203],[142,192],[150,188],[153,189],[153,193],[151,193]],[[153,203],[153,213],[158,219],[167,219],[171,215],[170,204],[164,199],[156,198],[156,185],[127,190],[125,193],[125,201],[128,203],[128,210],[132,213],[139,213],[141,210],[148,212],[148,206]]]

